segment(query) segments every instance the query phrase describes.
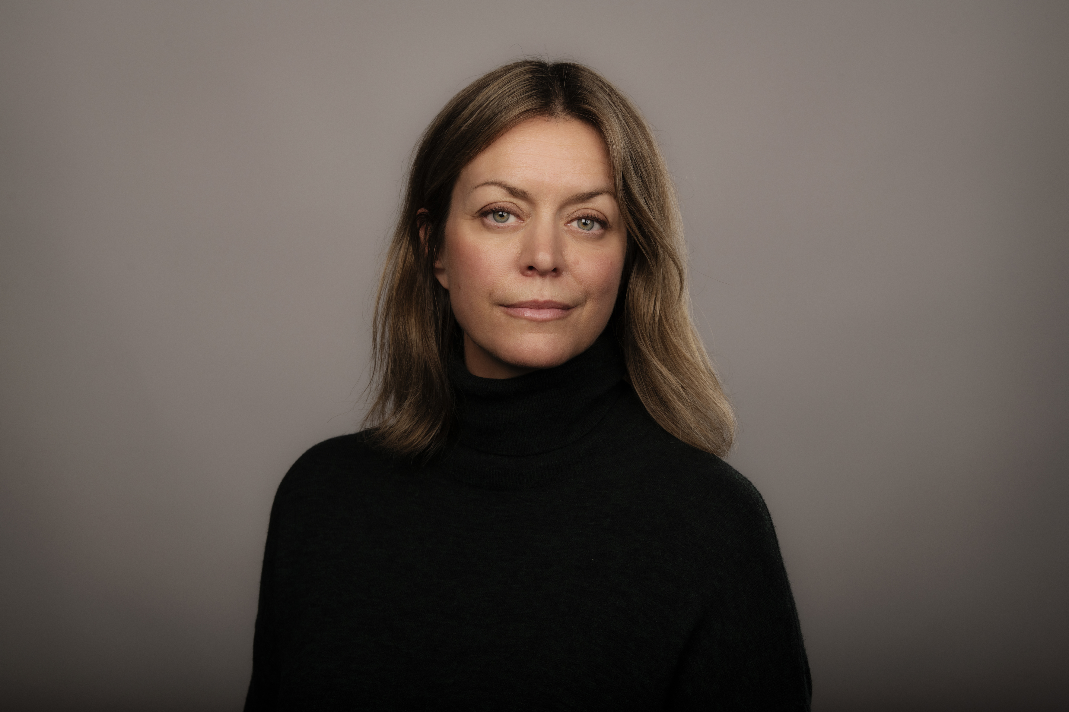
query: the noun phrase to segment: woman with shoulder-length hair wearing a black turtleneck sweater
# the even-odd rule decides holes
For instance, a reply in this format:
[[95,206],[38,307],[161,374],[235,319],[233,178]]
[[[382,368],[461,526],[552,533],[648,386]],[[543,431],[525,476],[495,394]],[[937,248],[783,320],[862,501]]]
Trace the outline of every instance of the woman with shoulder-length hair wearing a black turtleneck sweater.
[[808,709],[684,275],[616,88],[523,61],[458,94],[379,284],[372,427],[279,486],[246,709]]

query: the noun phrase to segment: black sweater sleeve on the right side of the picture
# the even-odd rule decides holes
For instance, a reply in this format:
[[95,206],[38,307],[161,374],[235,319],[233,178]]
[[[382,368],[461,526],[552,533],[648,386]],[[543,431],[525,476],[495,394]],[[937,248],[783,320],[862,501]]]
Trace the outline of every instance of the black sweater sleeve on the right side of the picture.
[[809,710],[811,682],[772,520],[738,473],[717,507],[709,604],[677,666],[672,710]]

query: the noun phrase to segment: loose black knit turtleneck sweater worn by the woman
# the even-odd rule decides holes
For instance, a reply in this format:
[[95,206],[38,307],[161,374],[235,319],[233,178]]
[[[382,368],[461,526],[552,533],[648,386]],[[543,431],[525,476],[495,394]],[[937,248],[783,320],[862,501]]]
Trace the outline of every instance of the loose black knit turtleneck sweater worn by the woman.
[[646,412],[602,337],[507,380],[453,369],[430,465],[365,433],[279,486],[246,710],[807,710],[761,496]]

